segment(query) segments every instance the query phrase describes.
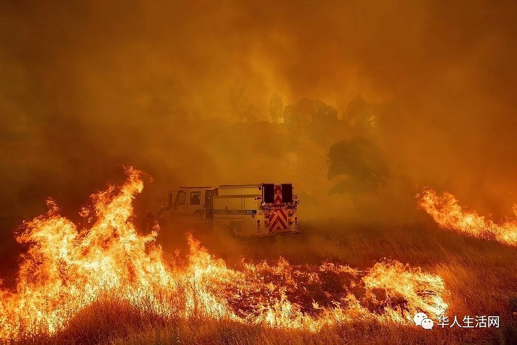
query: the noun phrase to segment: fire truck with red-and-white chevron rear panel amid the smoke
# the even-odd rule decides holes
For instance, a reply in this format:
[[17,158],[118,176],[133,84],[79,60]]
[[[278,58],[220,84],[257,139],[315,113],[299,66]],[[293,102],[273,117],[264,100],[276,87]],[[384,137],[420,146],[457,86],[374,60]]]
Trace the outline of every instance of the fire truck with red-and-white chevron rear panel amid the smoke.
[[300,201],[292,183],[180,187],[169,192],[170,216],[211,222],[236,236],[271,236],[298,231]]

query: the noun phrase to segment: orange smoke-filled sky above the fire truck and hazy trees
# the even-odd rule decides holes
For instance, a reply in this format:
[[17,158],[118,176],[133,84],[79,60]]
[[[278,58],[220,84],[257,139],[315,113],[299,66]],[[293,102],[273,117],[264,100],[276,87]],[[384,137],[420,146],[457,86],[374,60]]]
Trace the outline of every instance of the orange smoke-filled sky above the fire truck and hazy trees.
[[[255,153],[278,140],[260,131],[273,93],[285,104],[322,100],[340,118],[358,95],[391,104],[396,112],[376,141],[393,176],[509,213],[517,201],[516,7],[3,2],[1,214],[32,216],[47,196],[84,201],[117,179],[118,164],[171,188],[277,178],[309,190],[326,176],[329,145],[310,146],[320,158],[307,175],[292,164],[268,167],[270,157]],[[258,138],[239,155],[218,141],[240,121],[229,101],[235,89],[257,123],[242,130]],[[303,147],[282,159],[301,159]]]

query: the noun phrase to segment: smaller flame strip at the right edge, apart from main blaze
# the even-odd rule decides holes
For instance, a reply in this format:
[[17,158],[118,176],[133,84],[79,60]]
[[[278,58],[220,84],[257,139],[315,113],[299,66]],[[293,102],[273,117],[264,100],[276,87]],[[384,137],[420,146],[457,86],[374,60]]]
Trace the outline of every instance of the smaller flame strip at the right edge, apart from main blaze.
[[[423,188],[416,197],[419,207],[442,228],[517,246],[517,219],[495,223],[475,211],[463,209],[451,193],[444,192],[438,196],[428,187]],[[517,215],[517,205],[513,206],[513,212]]]

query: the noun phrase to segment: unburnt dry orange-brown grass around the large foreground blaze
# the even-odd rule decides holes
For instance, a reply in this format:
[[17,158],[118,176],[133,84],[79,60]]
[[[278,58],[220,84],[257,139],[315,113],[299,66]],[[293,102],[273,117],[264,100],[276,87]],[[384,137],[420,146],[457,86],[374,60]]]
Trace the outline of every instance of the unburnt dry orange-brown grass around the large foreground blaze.
[[[442,277],[449,316],[500,316],[499,328],[432,330],[414,324],[378,322],[357,318],[351,322],[324,326],[316,332],[283,329],[261,324],[214,320],[193,314],[185,319],[163,316],[144,305],[134,305],[103,296],[78,312],[68,326],[53,335],[23,333],[19,343],[236,343],[236,344],[341,344],[341,343],[512,343],[517,339],[517,318],[512,301],[517,298],[517,250],[496,242],[482,241],[434,224],[400,226],[355,226],[344,222],[306,223],[303,233],[243,240],[225,234],[191,229],[207,251],[238,266],[263,260],[274,264],[280,257],[289,263],[332,262],[354,268],[371,267],[374,262],[397,260],[419,266]],[[160,230],[158,241],[164,257],[186,250],[186,231]],[[177,297],[177,296],[176,296]],[[171,299],[170,303],[177,303]],[[180,303],[181,304],[181,303]],[[30,328],[28,328],[30,329]]]

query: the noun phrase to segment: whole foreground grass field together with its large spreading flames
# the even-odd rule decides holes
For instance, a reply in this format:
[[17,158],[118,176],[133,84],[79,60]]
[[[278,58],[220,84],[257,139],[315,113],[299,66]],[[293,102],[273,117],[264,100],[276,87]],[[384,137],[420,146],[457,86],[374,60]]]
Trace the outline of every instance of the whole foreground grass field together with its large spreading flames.
[[[53,203],[47,215],[24,224],[18,241],[29,250],[18,286],[0,290],[3,341],[476,342],[494,335],[479,329],[425,331],[412,317],[419,311],[435,320],[442,313],[510,312],[506,283],[515,281],[515,273],[490,267],[501,267],[500,260],[512,255],[515,260],[514,249],[497,248],[495,256],[493,244],[451,241],[440,238],[450,234],[422,229],[356,233],[331,226],[239,243],[197,233],[200,242],[188,234],[186,251],[165,260],[157,233],[139,235],[131,221],[131,203],[142,187],[140,173],[128,169],[125,185],[94,194],[92,207],[82,211],[82,228],[60,216]],[[185,238],[175,234],[176,241]],[[486,247],[479,250],[486,259],[483,270],[467,254],[480,245]],[[480,288],[482,280],[492,287]],[[484,299],[466,289],[484,293]]]

